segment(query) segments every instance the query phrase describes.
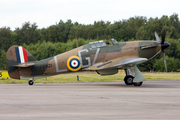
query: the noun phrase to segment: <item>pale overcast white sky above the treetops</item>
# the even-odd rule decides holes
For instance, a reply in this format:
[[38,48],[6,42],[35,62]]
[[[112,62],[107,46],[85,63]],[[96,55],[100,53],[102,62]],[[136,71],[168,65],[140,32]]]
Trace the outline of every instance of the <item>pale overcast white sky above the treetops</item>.
[[47,28],[60,20],[81,24],[119,21],[135,16],[161,18],[176,13],[180,0],[0,0],[0,28],[11,30],[25,22]]

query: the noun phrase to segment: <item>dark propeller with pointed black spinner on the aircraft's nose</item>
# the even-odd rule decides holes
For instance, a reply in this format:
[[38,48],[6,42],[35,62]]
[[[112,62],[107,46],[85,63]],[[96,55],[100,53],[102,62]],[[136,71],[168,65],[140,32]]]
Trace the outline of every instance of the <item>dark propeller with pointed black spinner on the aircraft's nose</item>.
[[161,51],[162,51],[162,54],[163,54],[164,65],[165,65],[165,69],[166,69],[166,72],[167,72],[167,65],[166,65],[166,59],[165,59],[165,52],[164,52],[164,50],[166,48],[168,48],[170,44],[165,42],[165,36],[166,36],[166,31],[164,30],[163,34],[162,34],[162,41],[161,41],[161,39],[159,38],[158,34],[155,32],[156,40],[161,43]]

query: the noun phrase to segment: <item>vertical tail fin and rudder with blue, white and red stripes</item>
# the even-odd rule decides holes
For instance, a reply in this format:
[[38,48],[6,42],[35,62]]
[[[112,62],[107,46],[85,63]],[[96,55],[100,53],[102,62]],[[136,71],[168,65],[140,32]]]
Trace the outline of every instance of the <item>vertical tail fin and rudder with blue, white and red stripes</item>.
[[36,61],[36,59],[25,48],[17,45],[11,46],[6,54],[9,76],[14,79],[20,79],[19,69],[16,65],[30,61]]

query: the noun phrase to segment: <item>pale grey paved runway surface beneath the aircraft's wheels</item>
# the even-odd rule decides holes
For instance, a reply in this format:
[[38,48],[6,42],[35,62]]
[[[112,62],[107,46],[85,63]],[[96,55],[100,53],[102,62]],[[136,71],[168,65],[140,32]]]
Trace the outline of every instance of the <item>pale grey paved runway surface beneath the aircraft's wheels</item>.
[[180,81],[0,84],[0,120],[180,119]]

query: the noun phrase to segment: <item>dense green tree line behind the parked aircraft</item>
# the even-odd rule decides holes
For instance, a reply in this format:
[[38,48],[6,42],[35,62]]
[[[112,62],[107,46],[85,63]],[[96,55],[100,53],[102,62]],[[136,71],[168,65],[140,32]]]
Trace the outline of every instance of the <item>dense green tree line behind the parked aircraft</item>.
[[[171,46],[165,50],[168,71],[180,69],[180,21],[178,14],[163,15],[161,18],[135,16],[126,20],[95,21],[84,25],[60,20],[47,28],[38,28],[36,23],[25,22],[22,27],[11,30],[10,27],[0,28],[0,69],[6,69],[6,52],[12,45],[25,47],[37,59],[51,57],[90,41],[116,39],[118,42],[134,40],[155,40],[154,32],[160,36],[166,30],[166,41]],[[139,65],[142,71],[164,71],[162,54]]]

